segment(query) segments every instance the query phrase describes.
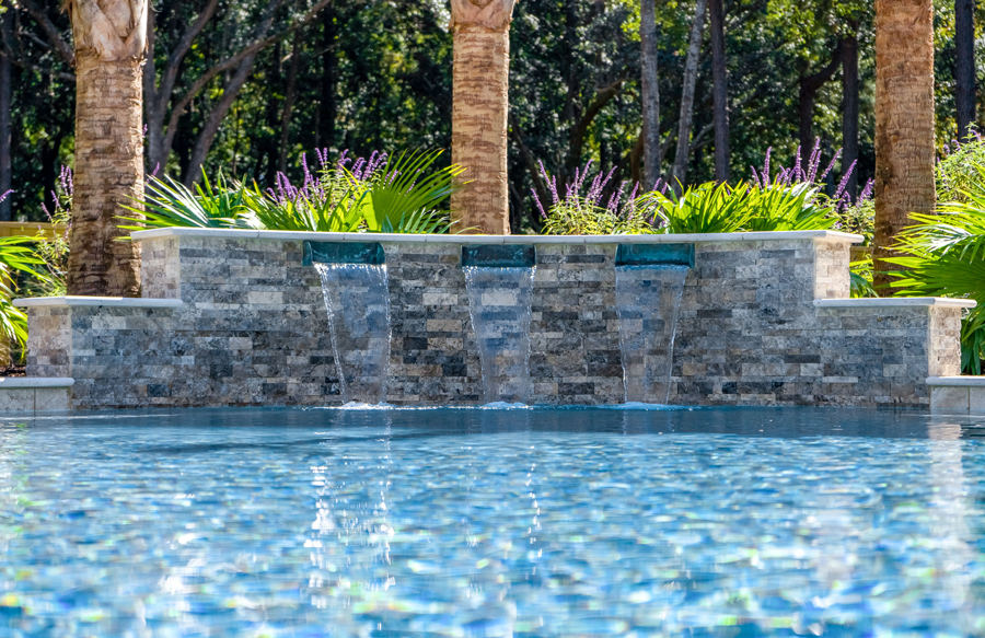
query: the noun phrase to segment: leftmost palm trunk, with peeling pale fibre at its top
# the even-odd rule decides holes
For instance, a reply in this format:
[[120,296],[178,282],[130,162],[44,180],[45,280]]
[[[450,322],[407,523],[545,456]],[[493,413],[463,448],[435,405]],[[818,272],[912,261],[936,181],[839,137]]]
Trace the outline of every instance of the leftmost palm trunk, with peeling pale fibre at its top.
[[143,196],[146,0],[69,0],[76,45],[76,175],[69,294],[140,294],[140,245],[117,241]]

